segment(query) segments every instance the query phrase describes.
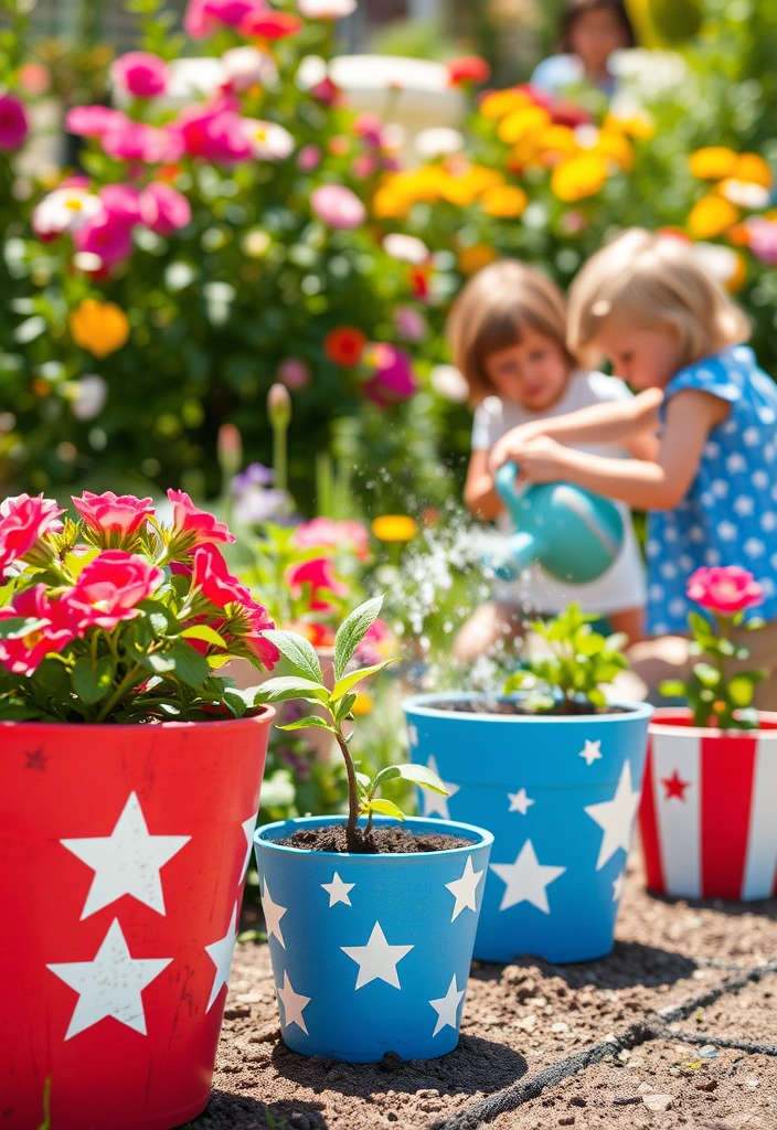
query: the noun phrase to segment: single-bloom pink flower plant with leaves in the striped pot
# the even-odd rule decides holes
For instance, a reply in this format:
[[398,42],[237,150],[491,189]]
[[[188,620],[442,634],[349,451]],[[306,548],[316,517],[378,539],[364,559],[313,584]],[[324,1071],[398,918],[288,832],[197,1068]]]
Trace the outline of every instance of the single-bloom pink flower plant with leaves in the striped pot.
[[687,698],[693,725],[722,730],[757,728],[758,712],[752,710],[754,688],[769,672],[749,670],[749,649],[730,637],[733,628],[761,626],[749,612],[763,600],[762,586],[740,565],[716,565],[691,574],[686,592],[705,611],[705,615],[690,612],[688,617],[693,636],[691,651],[701,660],[693,664],[687,683],[672,679],[662,684],[662,694]]

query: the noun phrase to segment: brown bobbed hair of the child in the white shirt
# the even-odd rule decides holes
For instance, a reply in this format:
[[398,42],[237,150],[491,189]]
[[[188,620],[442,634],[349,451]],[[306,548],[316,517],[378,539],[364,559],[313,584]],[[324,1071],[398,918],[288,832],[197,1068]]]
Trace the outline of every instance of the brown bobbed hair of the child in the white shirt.
[[447,324],[453,363],[466,379],[470,400],[478,403],[496,391],[486,359],[520,345],[527,327],[555,341],[571,370],[566,323],[564,295],[541,271],[515,259],[484,267],[456,298]]

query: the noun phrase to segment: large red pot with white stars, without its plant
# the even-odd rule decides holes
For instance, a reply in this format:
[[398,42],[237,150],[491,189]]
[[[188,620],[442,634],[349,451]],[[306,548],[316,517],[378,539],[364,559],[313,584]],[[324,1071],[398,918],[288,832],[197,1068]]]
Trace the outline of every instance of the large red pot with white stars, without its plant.
[[208,1103],[272,716],[0,723],[6,1130]]

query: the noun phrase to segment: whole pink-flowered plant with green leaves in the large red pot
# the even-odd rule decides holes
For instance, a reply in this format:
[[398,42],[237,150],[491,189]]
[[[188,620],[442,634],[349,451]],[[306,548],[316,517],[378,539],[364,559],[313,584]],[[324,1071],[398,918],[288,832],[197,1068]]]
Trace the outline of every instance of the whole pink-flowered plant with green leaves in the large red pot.
[[228,528],[169,490],[85,492],[79,521],[43,496],[0,504],[0,720],[152,722],[239,716],[251,696],[213,672],[271,669],[272,617],[229,572]]

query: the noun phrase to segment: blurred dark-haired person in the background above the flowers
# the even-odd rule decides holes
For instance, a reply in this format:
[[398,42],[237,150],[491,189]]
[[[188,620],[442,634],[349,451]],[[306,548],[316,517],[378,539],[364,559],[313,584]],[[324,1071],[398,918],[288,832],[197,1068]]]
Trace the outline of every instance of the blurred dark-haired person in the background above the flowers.
[[637,46],[623,0],[567,0],[559,28],[560,53],[544,59],[531,85],[549,94],[587,85],[610,97],[616,80],[608,69],[613,51]]

